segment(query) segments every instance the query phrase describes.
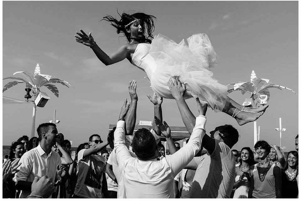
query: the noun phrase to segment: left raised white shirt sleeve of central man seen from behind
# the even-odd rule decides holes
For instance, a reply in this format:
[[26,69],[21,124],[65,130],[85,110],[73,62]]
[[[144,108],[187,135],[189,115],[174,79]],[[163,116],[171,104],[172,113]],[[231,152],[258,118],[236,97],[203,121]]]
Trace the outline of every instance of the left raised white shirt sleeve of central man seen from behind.
[[116,130],[114,132],[114,150],[119,164],[119,169],[121,169],[121,166],[126,159],[132,157],[125,145],[124,124],[124,121],[117,122]]

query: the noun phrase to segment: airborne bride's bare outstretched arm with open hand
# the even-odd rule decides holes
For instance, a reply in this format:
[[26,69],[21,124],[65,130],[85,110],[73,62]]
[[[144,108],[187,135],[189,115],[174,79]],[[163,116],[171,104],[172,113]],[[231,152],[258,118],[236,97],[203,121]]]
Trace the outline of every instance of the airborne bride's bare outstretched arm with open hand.
[[91,32],[87,35],[83,30],[80,30],[82,33],[76,32],[75,40],[79,43],[84,44],[85,46],[90,47],[97,58],[103,62],[104,65],[108,66],[113,63],[120,62],[130,55],[129,45],[124,45],[113,53],[111,56],[108,56],[94,41]]

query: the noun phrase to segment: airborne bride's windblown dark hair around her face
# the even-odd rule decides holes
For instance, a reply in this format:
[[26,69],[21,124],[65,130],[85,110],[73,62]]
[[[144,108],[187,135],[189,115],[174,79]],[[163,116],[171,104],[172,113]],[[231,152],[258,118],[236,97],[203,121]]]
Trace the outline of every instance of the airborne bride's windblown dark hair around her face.
[[[118,11],[117,11],[118,13]],[[118,13],[119,14],[119,13]],[[107,15],[103,17],[102,20],[106,20],[108,22],[111,22],[111,25],[114,26],[117,29],[117,33],[124,33],[127,40],[130,42],[132,39],[139,42],[139,43],[151,43],[151,39],[153,39],[152,33],[154,32],[155,26],[153,18],[156,19],[153,15],[148,15],[145,13],[134,13],[134,14],[119,14],[121,19],[118,21],[117,19],[113,18],[111,15]],[[127,32],[127,28],[125,27],[127,24],[129,24],[131,21],[135,19],[140,19],[142,21],[142,24],[144,25],[144,33],[141,38],[131,38],[130,33]],[[145,36],[145,31],[147,35]]]

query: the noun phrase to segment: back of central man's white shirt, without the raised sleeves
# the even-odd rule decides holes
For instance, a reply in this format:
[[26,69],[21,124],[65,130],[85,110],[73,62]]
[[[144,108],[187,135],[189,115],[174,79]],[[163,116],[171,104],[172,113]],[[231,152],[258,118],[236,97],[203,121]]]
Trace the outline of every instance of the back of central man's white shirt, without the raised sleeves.
[[174,198],[172,182],[178,172],[172,172],[165,157],[147,161],[129,158],[121,171],[126,198]]

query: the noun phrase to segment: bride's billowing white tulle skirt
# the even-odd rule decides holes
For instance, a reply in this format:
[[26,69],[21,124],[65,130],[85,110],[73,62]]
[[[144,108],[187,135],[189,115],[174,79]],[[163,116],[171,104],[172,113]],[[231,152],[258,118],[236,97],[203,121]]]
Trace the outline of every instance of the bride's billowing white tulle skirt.
[[184,98],[198,97],[206,101],[214,111],[224,108],[227,87],[219,84],[209,70],[217,66],[218,56],[214,52],[206,34],[195,34],[177,44],[164,35],[154,37],[150,45],[150,55],[157,67],[150,82],[152,89],[160,96],[173,99],[168,88],[171,76],[179,76],[186,85]]

